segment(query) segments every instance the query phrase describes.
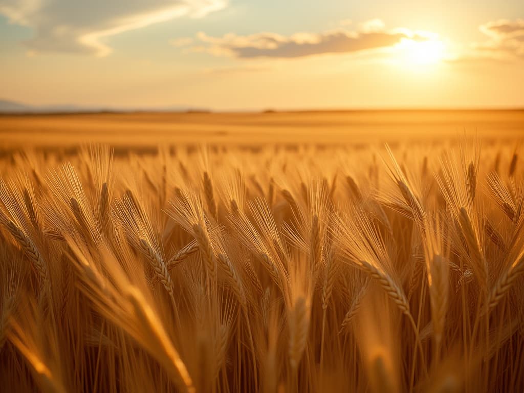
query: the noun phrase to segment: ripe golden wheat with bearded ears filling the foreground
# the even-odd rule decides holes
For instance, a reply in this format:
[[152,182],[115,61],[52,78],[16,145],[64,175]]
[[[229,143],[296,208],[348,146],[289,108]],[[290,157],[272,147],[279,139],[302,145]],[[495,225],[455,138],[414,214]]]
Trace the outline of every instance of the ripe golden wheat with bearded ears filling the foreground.
[[524,391],[514,140],[0,165],[5,391]]

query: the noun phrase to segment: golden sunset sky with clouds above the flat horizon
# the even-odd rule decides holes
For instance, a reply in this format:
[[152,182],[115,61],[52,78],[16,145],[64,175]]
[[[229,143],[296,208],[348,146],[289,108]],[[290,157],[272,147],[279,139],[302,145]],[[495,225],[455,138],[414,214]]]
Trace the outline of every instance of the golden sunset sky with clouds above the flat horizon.
[[522,0],[0,0],[0,99],[524,107]]

